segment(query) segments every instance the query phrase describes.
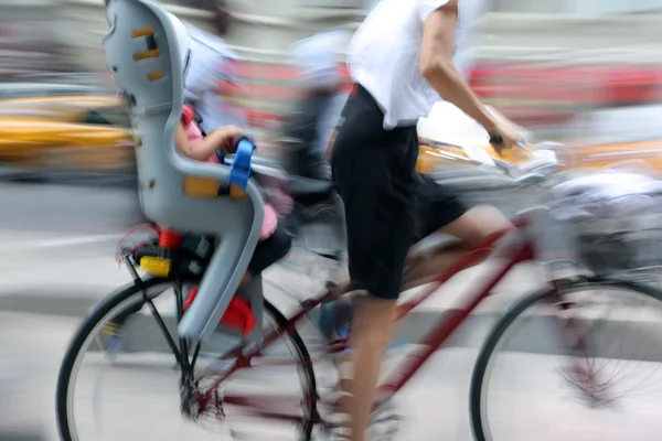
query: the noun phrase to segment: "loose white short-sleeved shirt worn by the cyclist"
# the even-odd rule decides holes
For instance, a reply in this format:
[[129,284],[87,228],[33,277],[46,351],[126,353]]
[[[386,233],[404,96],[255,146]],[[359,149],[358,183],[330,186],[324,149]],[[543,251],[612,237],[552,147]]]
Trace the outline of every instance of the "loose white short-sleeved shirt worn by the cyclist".
[[[423,29],[428,17],[449,0],[382,0],[363,21],[348,51],[352,79],[384,111],[384,128],[413,126],[426,117],[439,94],[420,75]],[[469,50],[484,0],[458,0],[453,64],[467,74]]]

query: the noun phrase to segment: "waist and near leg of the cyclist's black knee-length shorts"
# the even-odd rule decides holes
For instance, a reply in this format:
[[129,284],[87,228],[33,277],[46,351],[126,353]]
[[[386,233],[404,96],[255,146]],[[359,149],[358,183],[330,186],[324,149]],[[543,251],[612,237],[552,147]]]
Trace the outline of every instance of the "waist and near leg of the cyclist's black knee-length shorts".
[[361,86],[349,97],[343,118],[331,168],[344,203],[352,289],[396,299],[414,240],[416,126],[384,130],[384,114]]

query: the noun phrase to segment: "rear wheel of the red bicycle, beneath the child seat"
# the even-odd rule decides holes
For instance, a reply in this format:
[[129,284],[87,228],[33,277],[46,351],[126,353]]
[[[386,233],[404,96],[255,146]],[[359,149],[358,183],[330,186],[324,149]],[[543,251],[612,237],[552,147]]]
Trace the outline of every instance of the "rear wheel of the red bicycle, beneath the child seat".
[[[147,439],[212,440],[221,433],[250,440],[308,439],[317,422],[317,386],[312,362],[296,331],[274,334],[274,344],[255,357],[261,366],[241,368],[216,384],[237,362],[223,361],[236,343],[228,344],[215,333],[195,348],[186,342],[178,348],[179,315],[174,313],[168,322],[164,315],[169,305],[181,303],[178,288],[170,280],[146,280],[95,309],[61,369],[57,415],[62,438],[116,440],[126,438],[124,430],[129,429],[131,437]],[[114,334],[117,347],[99,352],[94,344],[97,334],[122,311],[132,312]],[[269,304],[265,320],[270,330],[285,326],[285,319]],[[209,364],[214,369],[210,370]],[[211,376],[201,376],[204,370]],[[271,420],[268,427],[278,428],[270,429],[273,435],[267,438],[265,419]],[[157,420],[159,424],[150,422]]]

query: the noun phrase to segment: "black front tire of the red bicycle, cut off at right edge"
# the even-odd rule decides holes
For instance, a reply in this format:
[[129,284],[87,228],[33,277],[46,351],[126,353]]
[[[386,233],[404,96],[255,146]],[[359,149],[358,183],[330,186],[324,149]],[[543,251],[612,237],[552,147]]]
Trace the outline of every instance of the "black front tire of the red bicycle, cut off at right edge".
[[[567,284],[564,289],[572,291],[573,289],[586,289],[594,287],[611,287],[616,289],[627,290],[633,293],[639,293],[645,297],[653,298],[662,302],[662,291],[660,291],[656,288],[650,287],[648,284],[641,284],[627,280],[611,279],[601,276],[573,281],[569,284]],[[508,329],[520,315],[522,315],[532,305],[535,305],[546,297],[553,295],[555,292],[556,288],[546,287],[538,291],[534,291],[516,301],[501,318],[501,320],[499,320],[499,322],[494,325],[488,338],[485,340],[473,367],[469,391],[470,421],[474,440],[493,441],[491,438],[488,438],[485,435],[485,432],[489,432],[489,430],[485,430],[485,427],[488,426],[485,424],[482,418],[482,389],[485,384],[485,374],[488,374],[488,369],[494,349],[498,347],[501,338],[506,333]]]

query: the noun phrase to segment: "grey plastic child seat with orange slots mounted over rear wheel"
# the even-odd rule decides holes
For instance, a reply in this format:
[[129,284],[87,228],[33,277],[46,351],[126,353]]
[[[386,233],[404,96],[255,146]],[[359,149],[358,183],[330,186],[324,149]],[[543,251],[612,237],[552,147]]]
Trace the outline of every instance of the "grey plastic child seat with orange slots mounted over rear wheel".
[[[141,208],[164,229],[217,241],[195,302],[178,330],[183,338],[204,341],[235,297],[259,239],[264,202],[250,174],[253,149],[233,163],[234,169],[180,154],[174,131],[191,58],[188,28],[150,0],[108,0],[106,18],[106,63],[131,105]],[[220,187],[229,191],[218,194]],[[233,191],[237,187],[241,191]],[[248,297],[261,323],[261,283]],[[255,327],[247,338],[252,342],[261,340],[261,326]]]

